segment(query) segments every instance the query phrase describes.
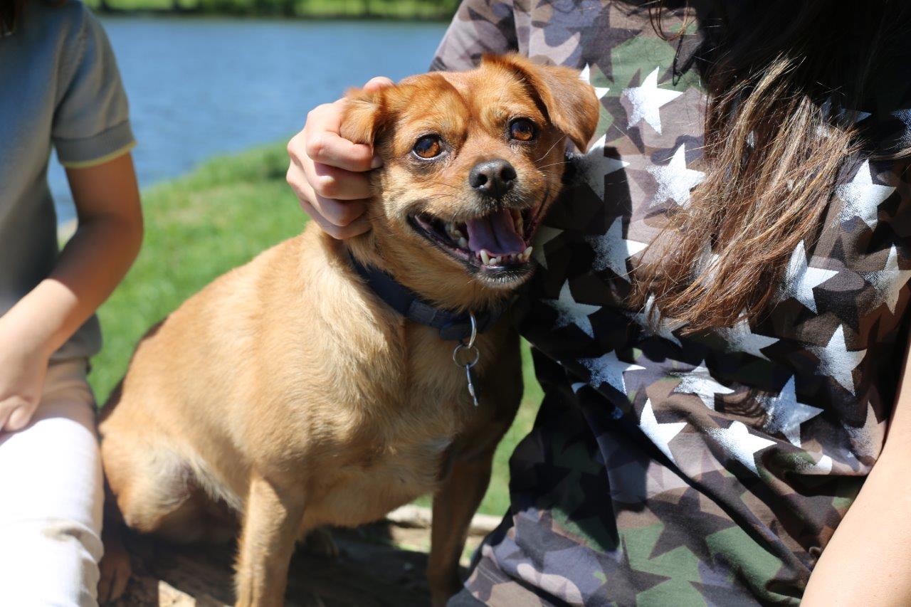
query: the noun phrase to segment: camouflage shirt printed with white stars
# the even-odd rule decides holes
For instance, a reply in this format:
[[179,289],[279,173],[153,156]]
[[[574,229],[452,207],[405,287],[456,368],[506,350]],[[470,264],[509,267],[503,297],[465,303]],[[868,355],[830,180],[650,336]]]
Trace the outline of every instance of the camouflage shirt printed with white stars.
[[[461,601],[799,602],[883,446],[907,333],[905,159],[845,163],[759,324],[651,331],[626,303],[639,253],[704,178],[705,98],[695,70],[674,73],[694,38],[608,0],[467,0],[435,57],[518,51],[581,69],[601,102],[585,178],[535,245],[523,334],[546,396]],[[884,146],[908,143],[898,88],[855,114]]]

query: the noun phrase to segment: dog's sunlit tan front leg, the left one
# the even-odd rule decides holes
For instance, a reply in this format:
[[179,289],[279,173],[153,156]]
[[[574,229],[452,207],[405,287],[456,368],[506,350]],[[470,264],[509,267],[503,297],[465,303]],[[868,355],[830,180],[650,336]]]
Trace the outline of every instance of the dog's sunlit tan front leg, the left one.
[[302,515],[303,489],[289,490],[253,473],[237,561],[239,606],[283,604]]

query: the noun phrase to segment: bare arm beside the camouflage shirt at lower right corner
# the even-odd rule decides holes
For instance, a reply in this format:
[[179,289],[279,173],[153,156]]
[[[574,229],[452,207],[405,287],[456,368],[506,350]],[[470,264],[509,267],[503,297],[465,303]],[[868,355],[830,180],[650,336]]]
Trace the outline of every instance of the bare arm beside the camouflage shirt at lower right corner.
[[911,371],[906,352],[885,447],[810,577],[802,604],[911,603]]

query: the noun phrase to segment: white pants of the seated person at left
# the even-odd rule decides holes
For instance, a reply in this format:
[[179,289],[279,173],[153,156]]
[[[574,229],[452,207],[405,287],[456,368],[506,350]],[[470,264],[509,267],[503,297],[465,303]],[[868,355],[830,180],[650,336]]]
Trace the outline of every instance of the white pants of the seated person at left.
[[86,371],[50,365],[31,423],[0,433],[0,605],[97,604],[104,491]]

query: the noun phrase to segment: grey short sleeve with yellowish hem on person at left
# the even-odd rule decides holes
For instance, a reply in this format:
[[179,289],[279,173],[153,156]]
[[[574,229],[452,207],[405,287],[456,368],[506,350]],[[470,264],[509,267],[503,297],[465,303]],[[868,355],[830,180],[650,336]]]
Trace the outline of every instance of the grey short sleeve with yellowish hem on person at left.
[[51,137],[65,167],[84,168],[126,153],[135,145],[127,95],[101,24],[83,9],[81,29],[62,51],[60,91]]

